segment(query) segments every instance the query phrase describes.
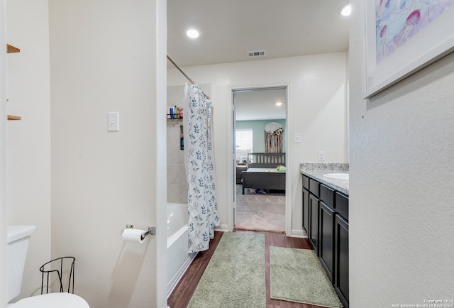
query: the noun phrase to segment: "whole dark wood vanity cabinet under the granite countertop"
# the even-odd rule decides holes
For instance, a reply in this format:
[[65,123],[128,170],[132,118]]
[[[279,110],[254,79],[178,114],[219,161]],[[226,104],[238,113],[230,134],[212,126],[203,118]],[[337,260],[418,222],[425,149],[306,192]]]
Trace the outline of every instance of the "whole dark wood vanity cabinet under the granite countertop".
[[303,228],[348,308],[348,196],[303,175]]

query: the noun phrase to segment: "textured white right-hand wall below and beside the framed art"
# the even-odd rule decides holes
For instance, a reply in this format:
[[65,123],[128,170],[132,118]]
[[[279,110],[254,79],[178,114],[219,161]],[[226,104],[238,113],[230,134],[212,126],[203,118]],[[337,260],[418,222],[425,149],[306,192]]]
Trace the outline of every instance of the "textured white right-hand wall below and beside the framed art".
[[350,307],[453,299],[454,54],[369,100],[350,1]]

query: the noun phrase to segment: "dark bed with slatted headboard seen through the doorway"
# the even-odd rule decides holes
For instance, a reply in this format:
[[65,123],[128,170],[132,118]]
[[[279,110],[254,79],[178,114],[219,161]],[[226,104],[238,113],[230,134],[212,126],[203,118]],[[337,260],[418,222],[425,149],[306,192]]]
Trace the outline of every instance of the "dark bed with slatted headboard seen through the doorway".
[[278,165],[285,165],[285,153],[248,153],[243,194],[245,188],[285,190],[285,172],[278,172]]

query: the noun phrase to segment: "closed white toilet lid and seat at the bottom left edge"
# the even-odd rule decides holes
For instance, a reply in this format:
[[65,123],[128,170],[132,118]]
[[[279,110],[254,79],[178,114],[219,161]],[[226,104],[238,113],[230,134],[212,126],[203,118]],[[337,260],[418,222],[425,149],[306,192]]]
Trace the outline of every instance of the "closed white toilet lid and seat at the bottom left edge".
[[90,308],[82,297],[72,293],[48,293],[21,299],[7,308]]

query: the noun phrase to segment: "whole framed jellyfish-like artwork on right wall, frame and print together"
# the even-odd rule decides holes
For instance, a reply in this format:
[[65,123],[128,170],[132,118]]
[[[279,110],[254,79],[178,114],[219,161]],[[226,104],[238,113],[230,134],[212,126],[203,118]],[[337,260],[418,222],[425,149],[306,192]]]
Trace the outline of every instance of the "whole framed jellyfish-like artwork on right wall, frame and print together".
[[454,0],[364,0],[363,99],[454,50]]

